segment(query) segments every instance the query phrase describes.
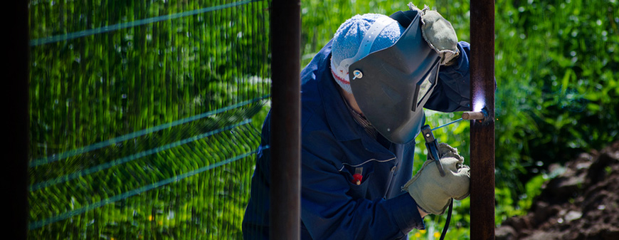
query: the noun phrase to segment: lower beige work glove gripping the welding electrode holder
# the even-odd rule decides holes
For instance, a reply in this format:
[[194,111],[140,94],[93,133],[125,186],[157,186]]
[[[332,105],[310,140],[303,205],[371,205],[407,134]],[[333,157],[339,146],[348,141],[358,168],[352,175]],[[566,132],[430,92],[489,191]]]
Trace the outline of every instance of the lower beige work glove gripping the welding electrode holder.
[[426,160],[402,190],[411,194],[425,212],[440,215],[445,213],[452,198],[462,200],[469,196],[470,168],[464,165],[464,158],[450,145],[441,142],[438,152],[445,177],[440,177],[435,160]]

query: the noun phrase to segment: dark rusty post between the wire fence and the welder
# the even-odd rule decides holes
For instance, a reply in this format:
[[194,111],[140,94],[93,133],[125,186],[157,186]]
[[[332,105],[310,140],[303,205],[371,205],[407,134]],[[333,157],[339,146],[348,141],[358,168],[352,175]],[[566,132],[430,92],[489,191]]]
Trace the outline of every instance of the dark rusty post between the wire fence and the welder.
[[270,239],[300,239],[301,2],[271,6]]

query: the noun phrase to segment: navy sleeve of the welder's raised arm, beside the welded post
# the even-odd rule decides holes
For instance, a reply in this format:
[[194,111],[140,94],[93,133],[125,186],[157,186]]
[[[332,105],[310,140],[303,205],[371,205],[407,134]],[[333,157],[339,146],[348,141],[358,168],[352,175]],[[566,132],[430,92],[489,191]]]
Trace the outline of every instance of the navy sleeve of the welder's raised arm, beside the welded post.
[[424,108],[441,112],[470,110],[470,44],[460,41],[457,48],[460,50],[457,62],[452,66],[440,66],[438,85]]

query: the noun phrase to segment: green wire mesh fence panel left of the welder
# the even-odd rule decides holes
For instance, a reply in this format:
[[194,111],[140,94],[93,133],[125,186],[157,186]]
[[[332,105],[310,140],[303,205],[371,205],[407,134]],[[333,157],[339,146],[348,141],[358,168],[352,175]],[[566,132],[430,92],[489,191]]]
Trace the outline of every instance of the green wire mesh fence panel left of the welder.
[[28,238],[241,239],[268,5],[31,1]]

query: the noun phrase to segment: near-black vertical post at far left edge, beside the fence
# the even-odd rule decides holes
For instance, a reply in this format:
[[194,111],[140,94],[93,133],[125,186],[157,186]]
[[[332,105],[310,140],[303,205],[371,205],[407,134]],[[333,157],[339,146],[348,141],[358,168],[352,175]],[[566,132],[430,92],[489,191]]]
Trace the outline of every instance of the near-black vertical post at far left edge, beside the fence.
[[4,197],[5,219],[3,239],[26,239],[28,234],[28,66],[30,43],[28,28],[29,1],[9,1],[4,6],[4,29],[8,33],[2,54],[3,71],[2,116],[8,122],[3,127],[6,148],[2,157],[1,187]]

